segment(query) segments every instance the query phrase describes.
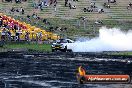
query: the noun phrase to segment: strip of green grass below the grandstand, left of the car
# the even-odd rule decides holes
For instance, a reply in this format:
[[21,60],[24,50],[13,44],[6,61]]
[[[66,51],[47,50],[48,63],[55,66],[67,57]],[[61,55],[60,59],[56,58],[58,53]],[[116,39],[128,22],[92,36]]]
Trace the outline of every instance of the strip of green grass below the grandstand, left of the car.
[[51,46],[50,44],[6,44],[4,45],[5,49],[28,49],[34,51],[43,51],[43,52],[50,52]]

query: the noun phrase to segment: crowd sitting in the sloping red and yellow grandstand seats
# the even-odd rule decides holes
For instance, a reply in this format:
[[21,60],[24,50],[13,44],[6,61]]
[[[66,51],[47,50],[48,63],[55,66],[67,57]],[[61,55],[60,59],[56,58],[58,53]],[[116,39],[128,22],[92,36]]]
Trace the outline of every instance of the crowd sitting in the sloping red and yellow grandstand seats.
[[42,41],[43,33],[42,31],[35,31],[35,28],[31,32],[26,23],[3,15],[0,16],[0,36],[1,41]]

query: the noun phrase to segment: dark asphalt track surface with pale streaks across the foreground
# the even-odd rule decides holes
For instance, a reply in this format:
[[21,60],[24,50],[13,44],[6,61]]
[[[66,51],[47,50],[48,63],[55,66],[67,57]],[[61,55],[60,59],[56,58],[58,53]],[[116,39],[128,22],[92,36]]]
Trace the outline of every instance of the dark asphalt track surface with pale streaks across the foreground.
[[80,65],[87,74],[132,75],[131,58],[14,53],[0,56],[0,88],[132,88],[131,84],[79,84]]

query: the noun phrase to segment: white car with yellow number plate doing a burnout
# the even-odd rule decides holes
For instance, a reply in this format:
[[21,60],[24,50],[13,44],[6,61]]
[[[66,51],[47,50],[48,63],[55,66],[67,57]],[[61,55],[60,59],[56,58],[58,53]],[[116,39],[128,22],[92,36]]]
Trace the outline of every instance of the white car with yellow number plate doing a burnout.
[[71,43],[74,43],[74,41],[71,39],[58,39],[51,45],[52,52],[57,50],[63,51],[63,52],[72,51],[70,47]]

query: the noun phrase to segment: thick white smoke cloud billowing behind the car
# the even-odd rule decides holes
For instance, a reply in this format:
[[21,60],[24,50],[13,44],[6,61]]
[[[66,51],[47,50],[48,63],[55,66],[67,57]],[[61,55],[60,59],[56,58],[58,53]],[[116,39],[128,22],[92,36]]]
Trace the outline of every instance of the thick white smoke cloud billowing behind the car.
[[99,37],[71,44],[73,52],[132,51],[132,31],[102,27]]

